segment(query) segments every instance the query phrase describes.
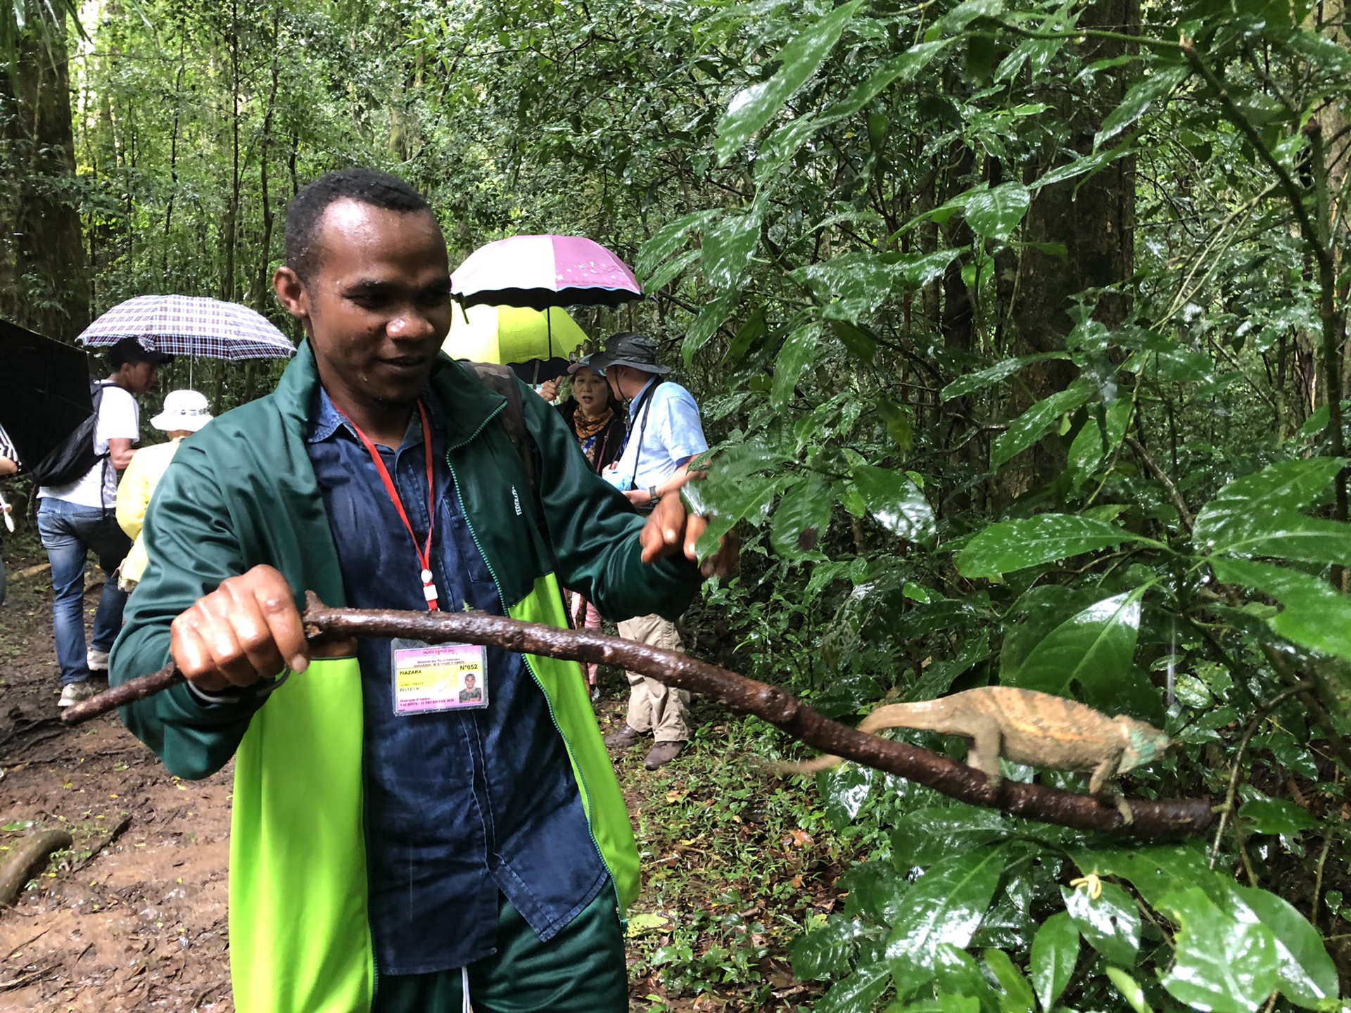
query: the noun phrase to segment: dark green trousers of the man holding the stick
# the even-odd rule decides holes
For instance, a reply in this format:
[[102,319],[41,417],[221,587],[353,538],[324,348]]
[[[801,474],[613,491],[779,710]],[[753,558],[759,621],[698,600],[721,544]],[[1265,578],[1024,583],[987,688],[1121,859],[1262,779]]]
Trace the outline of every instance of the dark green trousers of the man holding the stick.
[[[380,975],[373,1013],[461,1013],[461,971]],[[501,900],[497,952],[469,964],[474,1013],[627,1013],[624,931],[609,885],[557,936],[540,943]]]

